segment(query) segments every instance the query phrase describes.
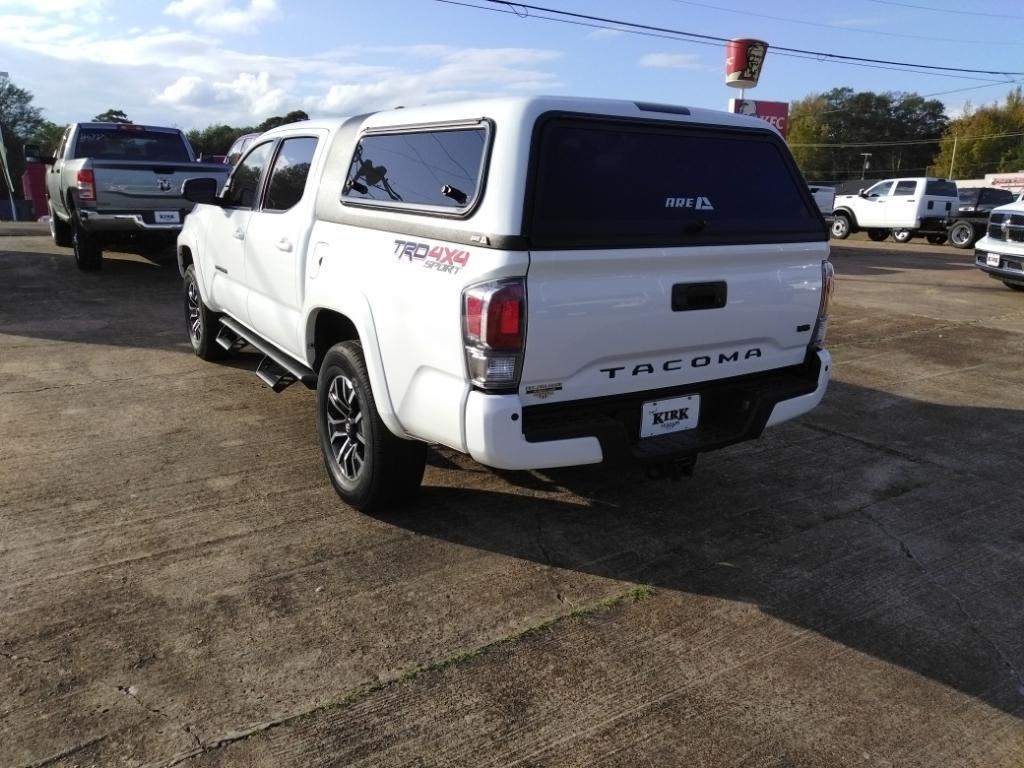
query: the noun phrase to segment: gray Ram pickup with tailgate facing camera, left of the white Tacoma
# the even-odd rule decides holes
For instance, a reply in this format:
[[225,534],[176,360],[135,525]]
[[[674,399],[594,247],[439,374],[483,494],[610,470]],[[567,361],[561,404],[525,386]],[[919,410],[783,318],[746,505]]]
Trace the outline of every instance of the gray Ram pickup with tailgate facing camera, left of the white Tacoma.
[[46,196],[50,233],[75,250],[81,269],[98,269],[103,249],[114,243],[134,250],[172,245],[193,204],[181,197],[190,178],[223,184],[230,170],[197,163],[176,128],[131,123],[75,123],[52,158]]

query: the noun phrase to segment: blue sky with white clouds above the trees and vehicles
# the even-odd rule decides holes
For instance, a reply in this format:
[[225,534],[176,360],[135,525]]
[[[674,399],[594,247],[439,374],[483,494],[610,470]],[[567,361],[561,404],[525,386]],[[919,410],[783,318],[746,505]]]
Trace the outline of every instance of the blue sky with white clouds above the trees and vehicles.
[[[979,3],[977,11],[962,0],[531,4],[790,48],[1024,72],[1024,5],[1016,2]],[[331,117],[496,93],[712,109],[738,95],[724,84],[719,44],[540,15],[435,0],[0,0],[0,71],[56,123],[113,108],[186,129],[255,124],[295,109]],[[1024,76],[894,72],[769,50],[748,97],[793,101],[838,86],[915,91],[957,116],[966,102],[1002,101],[1014,80]]]

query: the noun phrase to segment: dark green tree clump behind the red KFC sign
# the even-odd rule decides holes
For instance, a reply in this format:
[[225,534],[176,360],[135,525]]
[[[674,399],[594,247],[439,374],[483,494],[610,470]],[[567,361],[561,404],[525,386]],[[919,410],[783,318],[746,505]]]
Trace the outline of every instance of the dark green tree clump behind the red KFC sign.
[[942,102],[916,93],[834,88],[791,110],[788,141],[804,175],[845,180],[925,175],[948,125]]

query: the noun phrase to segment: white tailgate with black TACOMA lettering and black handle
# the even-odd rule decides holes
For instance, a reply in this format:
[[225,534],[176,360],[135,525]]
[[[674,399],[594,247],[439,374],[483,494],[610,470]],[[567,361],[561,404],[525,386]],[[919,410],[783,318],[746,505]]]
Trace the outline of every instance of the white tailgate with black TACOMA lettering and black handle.
[[799,365],[824,243],[532,253],[520,393],[555,402]]

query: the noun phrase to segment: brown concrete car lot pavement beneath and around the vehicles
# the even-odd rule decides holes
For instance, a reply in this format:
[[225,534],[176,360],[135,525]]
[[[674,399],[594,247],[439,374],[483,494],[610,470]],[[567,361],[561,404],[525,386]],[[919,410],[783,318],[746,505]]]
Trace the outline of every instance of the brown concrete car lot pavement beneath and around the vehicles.
[[169,261],[0,231],[0,766],[1024,765],[1024,294],[834,249],[825,404],[692,480],[322,470]]

